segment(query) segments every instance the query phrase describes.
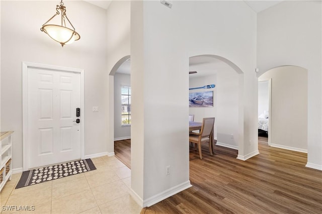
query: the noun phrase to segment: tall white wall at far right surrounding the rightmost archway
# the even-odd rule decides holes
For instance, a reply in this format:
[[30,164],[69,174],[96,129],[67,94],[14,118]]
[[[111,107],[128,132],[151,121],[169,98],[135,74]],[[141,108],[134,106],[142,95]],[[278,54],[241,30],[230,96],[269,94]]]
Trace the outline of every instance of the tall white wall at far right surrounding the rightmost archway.
[[320,1],[284,1],[258,14],[258,76],[282,65],[307,69],[307,166],[322,170]]

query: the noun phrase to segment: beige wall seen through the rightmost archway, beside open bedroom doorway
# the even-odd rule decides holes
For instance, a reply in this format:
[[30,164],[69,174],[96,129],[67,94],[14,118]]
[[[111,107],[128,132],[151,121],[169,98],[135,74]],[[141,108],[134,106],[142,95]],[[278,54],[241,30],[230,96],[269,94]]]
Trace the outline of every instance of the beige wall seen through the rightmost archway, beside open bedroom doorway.
[[272,79],[271,146],[307,150],[307,71],[296,66],[273,68],[259,77]]

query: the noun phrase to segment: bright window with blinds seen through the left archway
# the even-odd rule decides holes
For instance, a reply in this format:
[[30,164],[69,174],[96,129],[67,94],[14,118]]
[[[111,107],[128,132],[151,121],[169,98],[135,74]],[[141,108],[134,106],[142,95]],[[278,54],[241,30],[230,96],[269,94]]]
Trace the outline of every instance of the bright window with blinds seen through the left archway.
[[121,86],[122,126],[131,125],[131,86]]

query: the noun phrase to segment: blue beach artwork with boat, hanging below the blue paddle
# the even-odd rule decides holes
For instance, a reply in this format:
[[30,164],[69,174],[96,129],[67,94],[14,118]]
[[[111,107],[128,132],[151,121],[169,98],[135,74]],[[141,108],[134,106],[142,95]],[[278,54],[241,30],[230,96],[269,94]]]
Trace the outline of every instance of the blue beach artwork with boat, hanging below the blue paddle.
[[189,107],[213,107],[213,91],[189,93]]

